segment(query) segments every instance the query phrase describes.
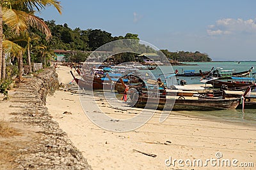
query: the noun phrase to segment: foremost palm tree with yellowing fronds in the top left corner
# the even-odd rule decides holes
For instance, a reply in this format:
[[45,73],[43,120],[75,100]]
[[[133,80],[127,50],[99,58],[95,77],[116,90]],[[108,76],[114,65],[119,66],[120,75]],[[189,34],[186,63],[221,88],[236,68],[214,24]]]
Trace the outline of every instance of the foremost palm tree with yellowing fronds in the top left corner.
[[[46,6],[51,5],[54,6],[59,13],[61,13],[60,2],[56,0],[0,0],[0,58],[2,62],[3,59],[5,61],[5,57],[2,53],[3,22],[17,34],[19,34],[20,31],[27,30],[29,26],[36,27],[36,29],[39,29],[46,35],[46,39],[49,39],[51,38],[50,29],[47,27],[43,20],[34,15],[34,11],[41,11],[42,9],[45,9]],[[20,53],[20,55],[21,54],[22,53]],[[3,72],[2,62],[0,64],[1,73]],[[22,62],[20,62],[20,64],[22,68]],[[3,80],[3,74],[1,75],[1,80]]]

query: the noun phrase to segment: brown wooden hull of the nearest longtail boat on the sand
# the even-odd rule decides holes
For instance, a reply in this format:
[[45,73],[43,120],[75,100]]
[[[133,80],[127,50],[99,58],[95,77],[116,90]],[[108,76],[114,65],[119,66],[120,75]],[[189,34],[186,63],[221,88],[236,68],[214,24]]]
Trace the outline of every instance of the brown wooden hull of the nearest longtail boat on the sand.
[[159,110],[234,110],[239,105],[236,99],[166,99],[154,97],[139,97],[135,107],[157,108]]

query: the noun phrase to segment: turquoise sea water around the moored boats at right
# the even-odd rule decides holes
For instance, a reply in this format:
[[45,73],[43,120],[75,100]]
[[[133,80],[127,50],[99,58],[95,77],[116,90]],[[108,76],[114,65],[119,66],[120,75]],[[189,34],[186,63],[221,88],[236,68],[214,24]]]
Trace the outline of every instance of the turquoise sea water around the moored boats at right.
[[[184,62],[187,64],[196,64],[196,66],[173,66],[173,70],[170,70],[170,67],[161,66],[161,69],[164,73],[173,73],[175,69],[179,70],[179,73],[182,70],[191,70],[194,69],[196,72],[209,71],[212,67],[216,69],[217,67],[221,67],[223,69],[234,69],[236,72],[246,71],[250,69],[252,66],[255,67],[256,72],[256,62],[241,62],[237,64],[237,62]],[[161,74],[161,70],[158,69],[154,72],[157,76]],[[168,75],[168,74],[167,74]],[[250,74],[252,77],[252,74]],[[179,78],[179,77],[178,77]],[[179,79],[184,79],[187,81],[187,84],[198,84],[200,83],[200,78],[195,77],[180,77]],[[182,115],[189,115],[193,117],[200,118],[210,118],[211,120],[216,120],[218,122],[231,122],[234,124],[242,124],[242,125],[250,125],[256,126],[256,110],[246,109],[244,113],[242,110],[221,110],[221,111],[181,111]]]

